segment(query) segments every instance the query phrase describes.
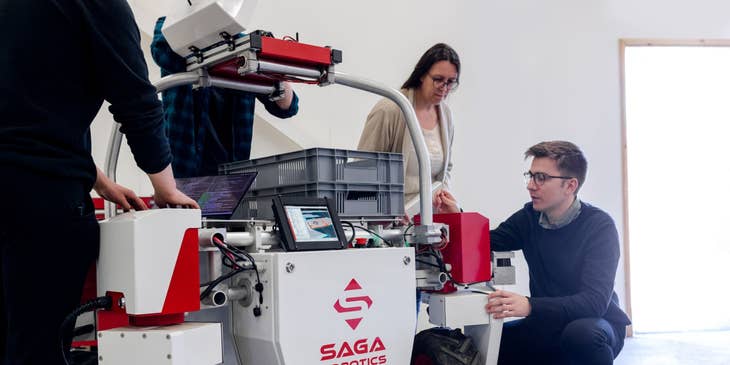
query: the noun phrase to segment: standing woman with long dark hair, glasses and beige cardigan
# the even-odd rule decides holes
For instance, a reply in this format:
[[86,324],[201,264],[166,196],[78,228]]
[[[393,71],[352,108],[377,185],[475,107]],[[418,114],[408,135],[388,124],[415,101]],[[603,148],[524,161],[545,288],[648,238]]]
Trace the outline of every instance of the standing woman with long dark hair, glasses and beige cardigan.
[[[429,48],[416,64],[401,92],[416,111],[431,163],[431,184],[442,183],[434,194],[435,212],[453,200],[448,193],[451,183],[451,148],[454,123],[446,97],[459,86],[461,62],[453,48],[438,43]],[[405,167],[405,200],[418,196],[418,160],[405,116],[390,99],[380,100],[370,111],[360,136],[359,150],[398,152]]]

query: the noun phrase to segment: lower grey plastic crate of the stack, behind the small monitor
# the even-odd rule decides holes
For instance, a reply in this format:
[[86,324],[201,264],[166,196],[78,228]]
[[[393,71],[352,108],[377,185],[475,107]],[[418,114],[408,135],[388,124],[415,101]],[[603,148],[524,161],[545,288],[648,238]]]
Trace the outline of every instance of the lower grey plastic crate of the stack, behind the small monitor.
[[272,199],[277,196],[326,197],[334,200],[344,218],[392,218],[403,216],[402,184],[314,183],[249,191],[233,219],[273,219]]

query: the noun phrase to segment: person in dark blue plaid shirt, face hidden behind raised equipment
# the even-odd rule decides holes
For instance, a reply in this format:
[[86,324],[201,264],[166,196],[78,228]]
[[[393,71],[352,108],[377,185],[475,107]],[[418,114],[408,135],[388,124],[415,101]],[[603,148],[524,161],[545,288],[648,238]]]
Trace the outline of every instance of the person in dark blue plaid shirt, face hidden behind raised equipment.
[[[151,45],[152,58],[163,77],[186,70],[185,59],[170,48],[162,34],[164,22],[165,17],[157,20]],[[186,85],[164,91],[165,132],[175,177],[217,175],[219,164],[248,160],[256,99],[279,118],[290,118],[299,110],[299,98],[287,82],[284,96],[276,101],[268,95],[216,87],[193,90]]]

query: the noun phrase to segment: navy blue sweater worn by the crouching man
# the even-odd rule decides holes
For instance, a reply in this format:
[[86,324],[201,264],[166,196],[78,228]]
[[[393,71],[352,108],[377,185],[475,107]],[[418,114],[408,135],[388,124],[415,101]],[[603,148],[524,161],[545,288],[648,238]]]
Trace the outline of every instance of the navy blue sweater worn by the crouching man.
[[616,226],[604,211],[581,203],[578,217],[545,229],[532,203],[490,233],[494,251],[522,250],[530,269],[530,317],[564,326],[580,318],[630,324],[613,291],[619,259]]

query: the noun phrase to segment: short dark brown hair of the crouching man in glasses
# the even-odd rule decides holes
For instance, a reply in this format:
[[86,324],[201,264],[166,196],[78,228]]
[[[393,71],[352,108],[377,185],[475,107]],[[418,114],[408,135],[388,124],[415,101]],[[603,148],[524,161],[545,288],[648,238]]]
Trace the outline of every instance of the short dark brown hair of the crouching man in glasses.
[[540,142],[525,151],[525,159],[528,157],[547,157],[554,160],[558,165],[560,175],[578,179],[576,194],[586,180],[588,162],[580,148],[573,143],[567,141]]

